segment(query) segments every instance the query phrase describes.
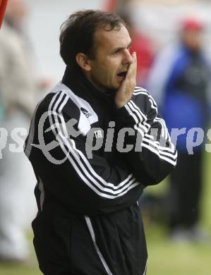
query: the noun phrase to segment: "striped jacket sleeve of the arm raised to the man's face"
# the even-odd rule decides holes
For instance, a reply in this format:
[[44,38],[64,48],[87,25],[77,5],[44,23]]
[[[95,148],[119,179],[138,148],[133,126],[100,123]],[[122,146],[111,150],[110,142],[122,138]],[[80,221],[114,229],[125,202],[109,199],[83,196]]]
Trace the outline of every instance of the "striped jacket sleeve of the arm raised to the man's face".
[[124,137],[125,144],[133,146],[125,158],[138,181],[144,185],[162,181],[176,166],[177,152],[149,92],[135,88],[130,102],[117,110],[116,122],[119,128],[133,130]]

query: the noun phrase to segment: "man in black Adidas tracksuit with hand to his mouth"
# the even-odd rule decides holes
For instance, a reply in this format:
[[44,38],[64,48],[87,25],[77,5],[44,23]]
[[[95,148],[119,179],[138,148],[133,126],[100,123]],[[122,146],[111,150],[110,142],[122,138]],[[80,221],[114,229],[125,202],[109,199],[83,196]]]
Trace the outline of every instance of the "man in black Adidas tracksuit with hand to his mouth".
[[73,13],[60,43],[64,78],[38,104],[25,146],[38,181],[40,269],[145,274],[137,200],[173,169],[174,145],[150,94],[135,88],[136,56],[119,16]]

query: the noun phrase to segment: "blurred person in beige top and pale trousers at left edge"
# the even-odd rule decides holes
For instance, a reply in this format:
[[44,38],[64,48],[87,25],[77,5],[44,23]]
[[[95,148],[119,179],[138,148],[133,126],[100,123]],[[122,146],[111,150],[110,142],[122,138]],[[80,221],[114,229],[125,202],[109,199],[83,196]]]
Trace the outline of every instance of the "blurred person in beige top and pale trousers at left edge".
[[[26,1],[8,1],[0,32],[0,100],[4,106],[1,127],[8,133],[3,137],[7,142],[0,159],[0,261],[3,262],[24,261],[28,257],[25,229],[36,211],[32,194],[35,176],[23,155],[24,139],[40,89],[23,27],[27,15]],[[16,128],[20,131],[13,132]],[[9,144],[17,152],[11,152]]]

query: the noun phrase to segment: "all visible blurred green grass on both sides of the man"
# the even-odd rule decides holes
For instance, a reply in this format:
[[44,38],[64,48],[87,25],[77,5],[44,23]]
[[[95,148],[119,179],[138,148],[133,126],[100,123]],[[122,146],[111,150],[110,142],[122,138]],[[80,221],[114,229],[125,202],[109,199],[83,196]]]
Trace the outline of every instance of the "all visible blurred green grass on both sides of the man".
[[[203,216],[201,225],[211,233],[211,154],[205,154],[204,190],[202,199]],[[191,171],[190,171],[191,173]],[[167,182],[149,188],[150,192],[163,193]],[[167,238],[164,226],[145,224],[148,263],[147,275],[209,275],[211,264],[211,243],[175,244]],[[35,252],[32,248],[28,264],[0,264],[1,275],[41,275],[37,267]],[[100,274],[99,274],[100,275]],[[129,274],[123,274],[129,275]]]

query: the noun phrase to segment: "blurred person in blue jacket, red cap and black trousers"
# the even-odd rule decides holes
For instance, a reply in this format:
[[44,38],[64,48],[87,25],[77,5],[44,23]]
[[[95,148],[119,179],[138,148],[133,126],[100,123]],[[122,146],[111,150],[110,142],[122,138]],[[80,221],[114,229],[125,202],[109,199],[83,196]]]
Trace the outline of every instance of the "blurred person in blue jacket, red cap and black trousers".
[[167,46],[157,56],[147,83],[157,99],[169,133],[172,128],[186,128],[186,133],[177,138],[178,163],[170,177],[169,228],[174,240],[205,238],[198,227],[203,142],[193,147],[193,154],[187,150],[188,130],[200,128],[205,131],[210,118],[210,63],[203,49],[203,30],[204,25],[197,18],[184,19],[179,42]]

